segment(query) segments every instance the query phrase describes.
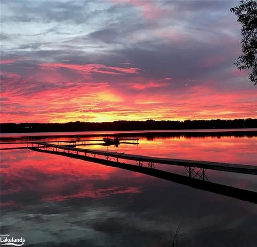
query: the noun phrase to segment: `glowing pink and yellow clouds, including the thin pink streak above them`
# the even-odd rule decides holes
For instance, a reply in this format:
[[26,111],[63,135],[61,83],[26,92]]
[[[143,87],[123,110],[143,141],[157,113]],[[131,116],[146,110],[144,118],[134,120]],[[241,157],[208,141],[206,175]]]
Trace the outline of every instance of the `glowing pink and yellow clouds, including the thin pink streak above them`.
[[[1,97],[8,98],[1,102],[2,122],[256,117],[254,90],[219,90],[215,87],[217,80],[201,79],[201,83],[188,86],[177,86],[177,81],[170,77],[158,80],[142,75],[133,79],[121,76],[109,81],[85,80],[83,73],[90,76],[107,66],[53,63],[53,69],[48,70],[50,66],[50,63],[43,65],[47,70],[36,69],[30,76],[22,77],[1,72]],[[66,69],[65,66],[81,74],[58,70]],[[124,75],[119,72],[124,68],[107,69]],[[236,74],[237,70],[227,72]]]

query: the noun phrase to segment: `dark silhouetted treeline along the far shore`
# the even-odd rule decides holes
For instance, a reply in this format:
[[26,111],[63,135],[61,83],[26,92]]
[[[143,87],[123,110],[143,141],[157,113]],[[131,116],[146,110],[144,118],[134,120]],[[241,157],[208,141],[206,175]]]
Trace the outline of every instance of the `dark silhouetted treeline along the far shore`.
[[182,130],[257,128],[257,119],[185,120],[185,121],[114,121],[67,123],[0,123],[1,133],[114,131],[114,130]]

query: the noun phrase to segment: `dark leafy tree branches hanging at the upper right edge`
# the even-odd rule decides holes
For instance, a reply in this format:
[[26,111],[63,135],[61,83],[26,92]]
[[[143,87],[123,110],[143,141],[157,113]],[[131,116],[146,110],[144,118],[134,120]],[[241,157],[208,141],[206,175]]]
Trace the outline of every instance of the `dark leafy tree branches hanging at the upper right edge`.
[[234,63],[238,69],[249,69],[249,79],[257,84],[257,2],[241,0],[239,5],[230,9],[242,24],[242,55]]

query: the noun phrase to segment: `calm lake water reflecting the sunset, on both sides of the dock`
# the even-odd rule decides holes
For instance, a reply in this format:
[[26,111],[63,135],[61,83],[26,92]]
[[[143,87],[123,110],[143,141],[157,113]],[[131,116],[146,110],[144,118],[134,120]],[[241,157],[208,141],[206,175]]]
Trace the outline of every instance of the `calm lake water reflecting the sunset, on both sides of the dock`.
[[[42,139],[77,138],[51,134]],[[135,137],[129,132],[127,136]],[[138,133],[137,137],[138,145],[79,147],[257,165],[256,132],[250,136]],[[182,167],[156,168],[187,174]],[[206,175],[211,182],[257,192],[255,175],[211,170]],[[254,203],[29,149],[1,151],[1,222],[1,233],[25,238],[24,246],[172,246],[171,237],[180,224],[175,246],[257,246]]]

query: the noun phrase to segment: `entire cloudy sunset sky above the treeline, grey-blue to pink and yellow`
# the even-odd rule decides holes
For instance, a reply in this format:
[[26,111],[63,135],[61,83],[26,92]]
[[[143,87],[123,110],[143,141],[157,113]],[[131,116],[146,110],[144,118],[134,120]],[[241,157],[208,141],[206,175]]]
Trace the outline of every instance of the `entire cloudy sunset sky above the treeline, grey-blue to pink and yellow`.
[[1,1],[1,122],[257,117],[239,1]]

